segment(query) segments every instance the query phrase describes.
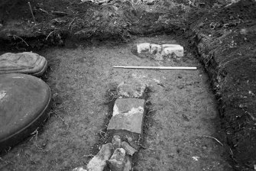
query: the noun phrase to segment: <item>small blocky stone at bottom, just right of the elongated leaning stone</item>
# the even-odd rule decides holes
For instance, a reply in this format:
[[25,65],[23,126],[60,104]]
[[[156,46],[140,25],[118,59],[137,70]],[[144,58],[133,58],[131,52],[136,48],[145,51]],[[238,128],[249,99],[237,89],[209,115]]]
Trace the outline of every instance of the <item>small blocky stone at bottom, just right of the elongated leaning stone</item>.
[[123,171],[125,167],[125,150],[117,148],[107,163],[112,171]]

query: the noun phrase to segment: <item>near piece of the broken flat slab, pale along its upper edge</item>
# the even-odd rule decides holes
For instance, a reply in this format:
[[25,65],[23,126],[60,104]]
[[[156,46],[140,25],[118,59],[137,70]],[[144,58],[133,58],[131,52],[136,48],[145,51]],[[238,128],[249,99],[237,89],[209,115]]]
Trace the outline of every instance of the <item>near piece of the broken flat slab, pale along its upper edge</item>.
[[126,130],[142,134],[144,108],[131,108],[130,111],[112,116],[108,130]]

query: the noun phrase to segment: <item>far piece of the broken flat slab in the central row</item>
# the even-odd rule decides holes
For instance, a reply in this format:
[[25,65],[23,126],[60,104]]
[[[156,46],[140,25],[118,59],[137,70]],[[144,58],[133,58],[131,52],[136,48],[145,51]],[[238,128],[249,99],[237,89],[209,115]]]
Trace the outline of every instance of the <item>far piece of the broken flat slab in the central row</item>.
[[139,108],[144,110],[144,99],[118,98],[113,108],[113,116]]

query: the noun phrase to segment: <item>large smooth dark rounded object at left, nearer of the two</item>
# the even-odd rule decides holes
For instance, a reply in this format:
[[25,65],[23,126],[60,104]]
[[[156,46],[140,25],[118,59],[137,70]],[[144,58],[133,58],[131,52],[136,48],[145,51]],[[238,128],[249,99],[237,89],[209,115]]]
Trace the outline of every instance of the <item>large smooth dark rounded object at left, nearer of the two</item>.
[[34,76],[0,75],[0,150],[31,134],[47,118],[50,88]]

